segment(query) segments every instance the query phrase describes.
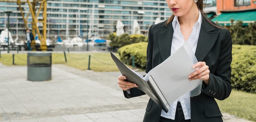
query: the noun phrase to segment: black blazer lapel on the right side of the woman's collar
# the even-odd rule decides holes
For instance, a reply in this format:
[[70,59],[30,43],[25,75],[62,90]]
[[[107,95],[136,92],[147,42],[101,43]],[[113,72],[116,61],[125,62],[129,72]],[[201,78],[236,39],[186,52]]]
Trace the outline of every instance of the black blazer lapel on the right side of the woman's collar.
[[213,25],[211,25],[205,18],[203,18],[198,38],[198,45],[195,51],[195,57],[198,59],[198,61],[204,60],[205,56],[209,53],[215,44],[218,35],[219,31],[215,31]]

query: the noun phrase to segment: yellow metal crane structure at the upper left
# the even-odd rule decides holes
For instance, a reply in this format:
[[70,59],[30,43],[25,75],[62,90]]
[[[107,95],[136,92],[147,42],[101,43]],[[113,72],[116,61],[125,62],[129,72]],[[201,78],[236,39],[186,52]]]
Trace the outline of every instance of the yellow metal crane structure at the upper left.
[[[40,50],[41,51],[47,51],[47,45],[46,45],[46,21],[47,21],[47,2],[46,0],[0,0],[0,2],[16,2],[19,7],[20,7],[20,13],[22,15],[25,27],[28,29],[27,27],[27,23],[28,23],[28,17],[31,14],[32,17],[32,33],[35,37],[36,33],[38,34],[38,38],[41,41],[40,44]],[[22,11],[22,4],[21,3],[27,3],[29,5],[29,13],[27,14],[26,18],[23,14]],[[36,7],[38,7],[38,11],[36,11]],[[39,14],[42,13],[43,19],[38,20],[38,16]],[[43,23],[43,30],[42,33],[40,33],[39,29],[38,29],[38,22]],[[31,43],[31,47],[33,47],[35,45],[35,40]]]

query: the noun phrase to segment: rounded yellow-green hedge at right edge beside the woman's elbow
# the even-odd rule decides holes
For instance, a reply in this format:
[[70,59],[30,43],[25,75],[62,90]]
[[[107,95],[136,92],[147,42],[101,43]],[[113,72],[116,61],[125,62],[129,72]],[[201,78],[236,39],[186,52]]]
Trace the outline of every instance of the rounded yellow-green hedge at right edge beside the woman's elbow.
[[233,45],[232,56],[232,88],[256,93],[256,46]]

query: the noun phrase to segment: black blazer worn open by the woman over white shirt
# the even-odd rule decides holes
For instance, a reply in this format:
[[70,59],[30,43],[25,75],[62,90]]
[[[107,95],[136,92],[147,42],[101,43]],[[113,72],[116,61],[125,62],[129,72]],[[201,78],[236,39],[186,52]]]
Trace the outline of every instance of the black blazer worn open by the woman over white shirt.
[[[173,27],[172,23],[165,26],[165,22],[154,24],[149,29],[146,72],[171,55]],[[191,122],[222,122],[214,98],[224,100],[231,93],[231,50],[229,30],[214,27],[203,18],[195,56],[209,66],[209,85],[203,82],[201,94],[191,98]],[[130,91],[130,94],[124,91],[126,98],[145,94],[137,88]],[[160,114],[161,108],[150,99],[143,122],[159,122]]]

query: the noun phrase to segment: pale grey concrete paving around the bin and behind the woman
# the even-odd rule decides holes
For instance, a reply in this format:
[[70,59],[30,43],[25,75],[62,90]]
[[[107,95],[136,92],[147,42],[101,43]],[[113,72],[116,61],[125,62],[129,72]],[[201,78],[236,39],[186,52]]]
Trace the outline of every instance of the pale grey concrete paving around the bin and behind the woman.
[[[126,99],[119,72],[52,65],[52,80],[27,81],[27,66],[0,63],[0,122],[142,122],[148,96]],[[224,122],[249,122],[223,113]]]

